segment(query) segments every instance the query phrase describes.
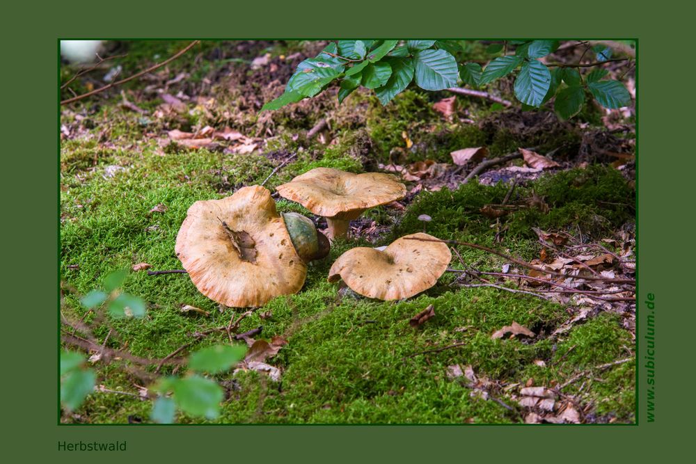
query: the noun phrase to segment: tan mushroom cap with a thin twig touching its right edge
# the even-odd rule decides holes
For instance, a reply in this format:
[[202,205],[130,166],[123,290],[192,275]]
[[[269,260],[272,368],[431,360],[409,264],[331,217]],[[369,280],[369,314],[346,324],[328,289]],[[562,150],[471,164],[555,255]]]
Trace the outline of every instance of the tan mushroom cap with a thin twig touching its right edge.
[[400,300],[419,294],[437,282],[452,259],[445,243],[428,234],[405,235],[383,251],[358,247],[335,260],[329,282],[339,278],[358,294],[380,300]]

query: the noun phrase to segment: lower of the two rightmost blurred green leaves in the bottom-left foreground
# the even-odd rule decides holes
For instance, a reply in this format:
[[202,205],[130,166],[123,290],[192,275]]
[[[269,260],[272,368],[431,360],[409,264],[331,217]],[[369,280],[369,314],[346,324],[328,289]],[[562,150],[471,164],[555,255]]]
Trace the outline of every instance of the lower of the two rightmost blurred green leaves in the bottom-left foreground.
[[224,394],[216,382],[201,376],[177,379],[172,385],[177,406],[192,416],[215,419]]

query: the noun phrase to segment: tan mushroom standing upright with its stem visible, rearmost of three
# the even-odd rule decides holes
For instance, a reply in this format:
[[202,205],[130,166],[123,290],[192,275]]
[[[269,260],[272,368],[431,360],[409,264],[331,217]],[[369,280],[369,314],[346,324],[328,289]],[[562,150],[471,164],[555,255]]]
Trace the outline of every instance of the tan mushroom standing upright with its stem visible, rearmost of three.
[[276,187],[283,198],[326,218],[329,239],[348,237],[350,221],[368,208],[401,200],[406,186],[391,174],[354,174],[315,168]]

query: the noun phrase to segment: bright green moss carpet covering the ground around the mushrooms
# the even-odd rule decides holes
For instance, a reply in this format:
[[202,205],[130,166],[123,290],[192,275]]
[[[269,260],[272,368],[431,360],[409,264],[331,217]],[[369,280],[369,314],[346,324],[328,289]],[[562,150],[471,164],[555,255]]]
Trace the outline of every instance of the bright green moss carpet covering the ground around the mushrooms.
[[[365,111],[365,119],[336,127],[337,145],[306,143],[299,152],[299,142],[283,129],[282,119],[287,115],[281,111],[274,116],[278,119],[276,132],[264,150],[244,155],[206,150],[163,154],[156,141],[144,136],[152,127],[139,125],[136,115],[119,109],[118,98],[102,104],[97,113],[109,114],[111,121],[118,122],[112,127],[113,143],[109,147],[92,138],[64,141],[61,148],[61,275],[70,287],[63,292],[61,310],[77,318],[84,315],[79,296],[99,287],[102,278],[114,269],[129,269],[139,262],[151,264],[152,269],[180,269],[174,243],[189,206],[197,200],[223,198],[239,186],[262,182],[278,164],[263,156],[264,152],[297,153],[296,159],[267,183],[272,191],[294,175],[319,166],[363,172],[370,162],[388,159],[393,147],[403,145],[402,131],[425,147],[413,154],[411,161],[445,161],[453,147],[489,143],[494,154],[503,154],[518,143],[530,146],[529,141],[516,138],[506,141],[506,134],[445,124],[430,109],[428,95],[409,90],[385,109],[366,95],[348,99],[353,109]],[[341,111],[349,110],[331,113],[334,124],[340,124]],[[69,120],[70,116],[64,118]],[[100,118],[94,119],[95,127],[90,132],[98,134]],[[312,122],[304,122],[304,129]],[[294,121],[292,127],[301,124]],[[356,150],[366,134],[372,147]],[[366,163],[365,157],[372,157],[372,161]],[[548,386],[562,384],[583,369],[630,353],[631,335],[612,314],[599,314],[561,337],[551,338],[551,331],[569,319],[567,307],[493,288],[459,288],[452,285],[452,273],[445,273],[423,294],[399,302],[341,296],[337,285],[326,282],[331,263],[345,250],[367,244],[379,246],[422,231],[419,214],[432,216],[433,221],[426,225],[430,234],[493,246],[496,220],[478,211],[487,203],[501,202],[507,189],[502,184],[482,186],[471,182],[455,191],[420,193],[399,214],[384,208],[367,211],[366,216],[388,226],[389,231],[372,243],[364,239],[335,243],[329,257],[309,266],[306,284],[298,294],[275,298],[262,309],[270,311],[271,317],[261,319],[261,311],[257,311],[242,321],[240,331],[263,326],[263,338],[283,335],[287,339],[287,346],[271,360],[283,370],[283,376],[276,383],[255,372],[237,374],[216,422],[521,422],[518,411],[471,397],[470,390],[448,378],[447,367],[471,365],[477,376],[487,376],[501,385],[525,384],[533,378],[535,385]],[[524,209],[503,221],[508,227],[503,249],[525,259],[539,253],[531,227],[571,232],[579,227],[583,234],[600,238],[630,222],[633,216],[633,209],[622,205],[633,205],[634,193],[613,168],[590,166],[546,175],[520,186],[514,199],[528,198],[532,190],[545,199],[551,211],[542,214]],[[150,213],[159,203],[168,208],[164,214]],[[278,209],[309,214],[285,200],[278,201]],[[478,250],[457,250],[465,262],[476,263],[482,270],[500,269],[504,264],[503,259]],[[457,259],[452,266],[460,266]],[[235,314],[232,309],[219,312],[218,305],[201,295],[187,275],[132,272],[123,288],[146,301],[148,314],[140,320],[111,321],[118,337],[112,337],[109,344],[115,348],[127,346],[134,355],[164,357],[191,341],[192,333],[227,323]],[[211,315],[182,314],[183,304],[200,307]],[[436,317],[421,328],[411,328],[409,319],[430,304]],[[237,310],[236,314],[241,312]],[[512,321],[539,336],[532,340],[491,339],[491,333]],[[104,337],[106,328],[96,333]],[[195,348],[226,339],[226,334],[210,335]],[[436,353],[416,354],[459,342],[466,343]],[[537,365],[536,360],[543,360],[546,367]],[[135,379],[116,365],[97,364],[95,368],[98,383],[112,390],[134,391]],[[628,362],[597,371],[590,385],[585,385],[583,405],[590,405],[588,411],[597,421],[635,420],[634,369],[634,363]],[[232,376],[227,373],[217,378],[224,382]],[[564,392],[575,394],[579,387],[569,385]],[[513,403],[505,395],[501,394],[500,399]],[[127,422],[129,416],[147,420],[151,406],[150,401],[125,395],[92,394],[77,413],[82,422],[118,423]],[[63,420],[74,419],[66,415]],[[200,419],[180,416],[178,421]]]

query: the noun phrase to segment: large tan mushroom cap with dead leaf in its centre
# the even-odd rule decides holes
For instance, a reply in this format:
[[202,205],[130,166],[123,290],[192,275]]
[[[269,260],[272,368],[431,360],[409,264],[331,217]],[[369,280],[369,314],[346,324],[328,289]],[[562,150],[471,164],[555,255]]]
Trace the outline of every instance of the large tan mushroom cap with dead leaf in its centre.
[[[233,243],[240,232],[248,235]],[[307,275],[271,193],[258,185],[193,203],[175,251],[200,293],[230,307],[261,306],[294,294]]]

